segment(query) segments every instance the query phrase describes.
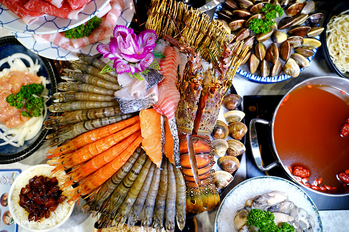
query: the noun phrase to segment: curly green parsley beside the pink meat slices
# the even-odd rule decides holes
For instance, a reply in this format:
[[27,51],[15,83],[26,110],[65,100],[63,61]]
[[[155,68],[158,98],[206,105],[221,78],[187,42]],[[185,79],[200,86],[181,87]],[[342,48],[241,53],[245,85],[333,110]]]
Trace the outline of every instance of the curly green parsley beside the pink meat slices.
[[82,37],[89,36],[92,31],[99,27],[102,23],[102,18],[98,18],[97,16],[91,18],[87,21],[87,24],[81,24],[77,27],[69,29],[64,32],[64,36],[68,39],[78,39]]

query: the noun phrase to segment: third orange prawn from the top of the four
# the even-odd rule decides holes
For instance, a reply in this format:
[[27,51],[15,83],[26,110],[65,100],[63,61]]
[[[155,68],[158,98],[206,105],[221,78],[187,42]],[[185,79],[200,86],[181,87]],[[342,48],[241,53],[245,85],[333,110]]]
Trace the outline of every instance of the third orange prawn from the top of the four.
[[[75,168],[74,170],[70,171],[68,174],[64,176],[58,176],[57,178],[60,181],[65,181],[66,184],[73,184],[73,182],[79,182],[84,177],[90,175],[91,173],[94,173],[99,168],[103,167],[113,159],[116,159],[119,157],[120,153],[128,149],[128,147],[134,147],[133,141],[141,134],[141,131],[137,131],[136,133],[128,136],[125,139],[122,139],[119,143],[112,146],[108,150],[102,152],[101,154],[98,154],[94,158],[90,159],[86,163],[83,163],[81,166]],[[130,150],[130,149],[128,149]],[[125,157],[122,157],[122,160],[125,159]]]

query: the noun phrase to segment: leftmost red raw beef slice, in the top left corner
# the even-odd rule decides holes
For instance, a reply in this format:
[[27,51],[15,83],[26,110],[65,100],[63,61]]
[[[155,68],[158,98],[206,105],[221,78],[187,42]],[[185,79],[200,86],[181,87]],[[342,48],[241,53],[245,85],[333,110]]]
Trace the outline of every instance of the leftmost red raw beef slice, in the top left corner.
[[27,0],[0,0],[0,3],[5,5],[10,11],[20,17],[27,25],[31,25],[40,17],[45,16],[44,14],[37,13],[36,11],[25,9],[24,5],[26,2]]

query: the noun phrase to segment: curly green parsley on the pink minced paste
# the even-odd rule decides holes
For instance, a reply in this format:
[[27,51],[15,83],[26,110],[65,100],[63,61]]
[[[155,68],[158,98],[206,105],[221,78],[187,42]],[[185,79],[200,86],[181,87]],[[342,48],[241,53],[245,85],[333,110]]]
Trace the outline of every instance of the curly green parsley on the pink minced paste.
[[29,84],[22,86],[20,91],[16,94],[10,94],[6,97],[6,102],[10,106],[15,106],[16,109],[22,109],[23,106],[27,111],[22,111],[21,115],[26,117],[39,117],[44,107],[44,100],[41,97],[34,97],[40,95],[44,90],[42,84]]

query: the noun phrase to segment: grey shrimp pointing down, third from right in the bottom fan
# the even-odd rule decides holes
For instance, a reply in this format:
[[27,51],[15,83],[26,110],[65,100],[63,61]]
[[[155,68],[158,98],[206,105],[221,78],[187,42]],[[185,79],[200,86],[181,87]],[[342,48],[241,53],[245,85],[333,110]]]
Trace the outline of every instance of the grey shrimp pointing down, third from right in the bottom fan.
[[157,192],[154,213],[153,213],[153,228],[160,232],[163,227],[166,195],[168,188],[168,170],[167,170],[167,158],[163,158],[162,170],[160,174],[159,190]]

